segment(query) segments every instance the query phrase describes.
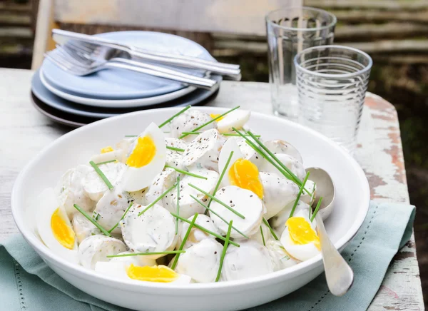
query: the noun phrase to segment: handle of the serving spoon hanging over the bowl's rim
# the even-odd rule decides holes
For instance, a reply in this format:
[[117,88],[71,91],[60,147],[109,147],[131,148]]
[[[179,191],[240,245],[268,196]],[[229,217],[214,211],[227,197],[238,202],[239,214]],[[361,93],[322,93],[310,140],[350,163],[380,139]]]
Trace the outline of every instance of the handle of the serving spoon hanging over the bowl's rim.
[[320,213],[315,215],[317,230],[320,236],[322,261],[324,262],[325,278],[330,292],[335,296],[343,296],[350,289],[354,281],[354,272],[350,265],[336,250],[335,245],[328,238],[322,223]]

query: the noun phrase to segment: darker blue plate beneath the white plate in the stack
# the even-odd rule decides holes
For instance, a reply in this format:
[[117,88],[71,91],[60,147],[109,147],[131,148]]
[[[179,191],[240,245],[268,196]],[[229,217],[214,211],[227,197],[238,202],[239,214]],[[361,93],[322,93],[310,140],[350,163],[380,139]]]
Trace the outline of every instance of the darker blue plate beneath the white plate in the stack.
[[[219,85],[220,81],[222,81],[221,76],[211,76],[210,78],[215,81],[218,81],[217,85]],[[151,106],[137,108],[101,108],[84,106],[80,103],[73,103],[72,101],[67,101],[64,98],[56,96],[54,93],[51,93],[51,91],[49,91],[43,85],[43,83],[41,83],[39,71],[36,71],[34,73],[33,79],[31,80],[31,91],[33,92],[34,96],[36,96],[36,98],[46,104],[46,106],[49,106],[55,111],[67,113],[69,116],[78,116],[86,118],[108,118],[111,116],[117,116],[122,113],[146,110],[151,108],[202,105],[210,101],[212,98],[215,98],[218,93],[218,88],[211,91],[197,89],[191,93],[188,93],[188,95],[174,99],[173,101],[167,101],[165,103],[155,104]]]

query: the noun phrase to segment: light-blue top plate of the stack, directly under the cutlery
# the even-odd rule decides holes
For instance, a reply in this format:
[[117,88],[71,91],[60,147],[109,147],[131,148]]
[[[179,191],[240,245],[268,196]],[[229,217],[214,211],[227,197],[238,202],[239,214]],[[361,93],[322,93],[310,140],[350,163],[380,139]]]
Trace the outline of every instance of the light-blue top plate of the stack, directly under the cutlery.
[[[140,46],[147,50],[194,56],[215,61],[199,44],[172,34],[151,31],[118,31],[100,34],[106,39]],[[103,99],[131,99],[158,96],[184,88],[182,83],[133,71],[108,68],[89,76],[73,76],[46,59],[42,68],[49,84],[77,96]],[[180,68],[184,73],[204,76],[205,71]]]

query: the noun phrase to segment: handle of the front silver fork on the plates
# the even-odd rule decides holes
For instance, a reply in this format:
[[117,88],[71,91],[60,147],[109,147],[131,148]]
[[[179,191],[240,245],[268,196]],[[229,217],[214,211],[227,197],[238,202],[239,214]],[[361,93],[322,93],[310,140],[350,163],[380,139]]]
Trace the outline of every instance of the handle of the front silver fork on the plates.
[[119,63],[116,61],[107,62],[104,64],[104,67],[121,68],[121,69],[136,71],[139,73],[146,73],[151,76],[157,76],[159,78],[166,78],[168,80],[182,82],[182,83],[188,84],[189,86],[204,88],[205,90],[211,90],[217,83],[217,81],[207,79],[207,78],[199,78],[199,77],[190,76],[190,75],[185,75],[188,77],[184,77],[181,74],[177,75],[173,73],[166,73],[163,71],[155,70],[153,68],[143,68],[141,66],[137,67],[128,63]]

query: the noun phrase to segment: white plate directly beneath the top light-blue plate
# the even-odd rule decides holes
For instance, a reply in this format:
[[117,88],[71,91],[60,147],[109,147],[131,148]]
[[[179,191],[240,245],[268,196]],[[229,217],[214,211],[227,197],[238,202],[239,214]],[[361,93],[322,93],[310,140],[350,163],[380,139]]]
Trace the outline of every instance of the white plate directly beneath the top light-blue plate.
[[55,88],[46,81],[46,78],[43,74],[43,68],[40,69],[40,80],[41,83],[56,96],[65,98],[68,101],[73,101],[73,103],[81,103],[87,106],[103,107],[103,108],[134,108],[134,107],[143,107],[148,105],[153,105],[156,103],[165,103],[166,101],[172,101],[175,98],[185,96],[188,93],[195,91],[194,86],[188,86],[187,88],[182,88],[178,91],[166,93],[163,95],[146,97],[146,98],[136,98],[136,99],[98,99],[98,98],[87,98],[82,96],[77,96],[69,94]]

